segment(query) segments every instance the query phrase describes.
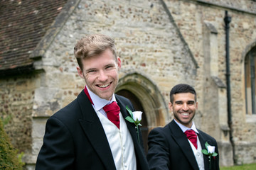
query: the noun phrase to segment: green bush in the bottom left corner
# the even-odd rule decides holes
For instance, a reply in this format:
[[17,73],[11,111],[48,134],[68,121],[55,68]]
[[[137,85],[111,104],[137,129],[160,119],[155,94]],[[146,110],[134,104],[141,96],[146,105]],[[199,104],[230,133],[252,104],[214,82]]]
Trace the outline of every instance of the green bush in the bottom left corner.
[[[21,155],[22,156],[22,155]],[[8,135],[0,118],[0,169],[4,170],[21,170],[22,164],[18,160],[17,151],[12,147]]]

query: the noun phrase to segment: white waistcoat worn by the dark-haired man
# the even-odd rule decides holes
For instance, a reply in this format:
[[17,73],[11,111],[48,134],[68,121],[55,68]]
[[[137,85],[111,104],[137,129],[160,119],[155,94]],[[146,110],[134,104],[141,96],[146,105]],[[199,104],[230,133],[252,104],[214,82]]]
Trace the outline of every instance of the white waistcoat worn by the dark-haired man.
[[192,144],[190,140],[188,140],[189,144],[191,145],[191,148],[193,150],[193,154],[196,157],[196,162],[198,163],[198,167],[200,170],[204,170],[204,162],[203,162],[203,153],[202,153],[202,146],[199,141],[199,138],[197,137],[197,145],[198,149]]

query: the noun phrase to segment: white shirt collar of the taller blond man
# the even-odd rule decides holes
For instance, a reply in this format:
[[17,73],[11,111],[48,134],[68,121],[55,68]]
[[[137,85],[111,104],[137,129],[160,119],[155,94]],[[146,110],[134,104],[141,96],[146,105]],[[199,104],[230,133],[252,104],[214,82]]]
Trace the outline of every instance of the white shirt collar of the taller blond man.
[[[87,86],[86,86],[87,88]],[[90,98],[92,99],[92,103],[95,106],[96,111],[100,111],[105,105],[112,103],[113,101],[116,101],[116,98],[113,94],[111,101],[107,101],[104,98],[100,98],[96,94],[94,94],[92,91],[90,91],[89,88],[87,88],[87,91],[90,95]]]

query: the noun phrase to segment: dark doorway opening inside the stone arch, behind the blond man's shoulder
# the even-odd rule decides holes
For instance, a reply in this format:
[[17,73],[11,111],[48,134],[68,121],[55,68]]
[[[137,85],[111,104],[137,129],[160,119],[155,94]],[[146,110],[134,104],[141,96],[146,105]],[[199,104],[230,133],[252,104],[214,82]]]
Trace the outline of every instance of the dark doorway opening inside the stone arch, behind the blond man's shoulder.
[[117,91],[118,95],[120,96],[124,96],[126,98],[129,98],[130,101],[132,101],[132,104],[135,108],[135,111],[142,111],[142,127],[140,127],[140,129],[142,130],[142,140],[143,140],[143,145],[144,145],[144,149],[145,152],[147,154],[147,136],[148,136],[148,124],[146,121],[146,114],[144,113],[144,108],[142,107],[142,103],[139,101],[139,98],[137,98],[137,96],[135,96],[134,94],[132,94],[130,91],[127,90],[121,90],[121,91]]

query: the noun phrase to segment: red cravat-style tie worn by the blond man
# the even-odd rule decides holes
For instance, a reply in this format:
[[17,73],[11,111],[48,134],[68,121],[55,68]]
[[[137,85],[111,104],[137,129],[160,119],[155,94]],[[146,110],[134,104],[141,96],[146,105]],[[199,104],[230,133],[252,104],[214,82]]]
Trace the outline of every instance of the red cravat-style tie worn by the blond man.
[[120,125],[120,120],[119,120],[119,113],[120,113],[120,108],[117,105],[117,102],[113,101],[109,105],[106,105],[103,107],[103,110],[107,113],[107,118],[114,123],[114,125],[119,128]]

